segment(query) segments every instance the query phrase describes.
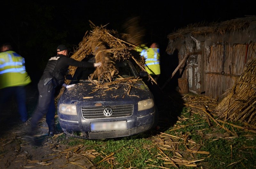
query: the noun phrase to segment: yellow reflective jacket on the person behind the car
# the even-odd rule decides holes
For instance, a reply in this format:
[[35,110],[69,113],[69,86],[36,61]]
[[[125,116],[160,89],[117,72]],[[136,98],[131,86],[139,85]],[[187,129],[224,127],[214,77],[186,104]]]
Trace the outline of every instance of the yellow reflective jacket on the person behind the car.
[[160,54],[159,48],[148,48],[145,45],[134,48],[145,58],[145,69],[149,75],[160,75]]

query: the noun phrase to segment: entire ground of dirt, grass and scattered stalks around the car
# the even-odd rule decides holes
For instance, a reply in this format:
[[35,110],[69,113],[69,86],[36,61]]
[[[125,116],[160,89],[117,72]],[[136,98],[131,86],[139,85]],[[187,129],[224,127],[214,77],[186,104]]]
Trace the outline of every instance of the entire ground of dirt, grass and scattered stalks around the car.
[[[62,133],[53,138],[45,137],[41,147],[29,147],[20,137],[15,135],[8,139],[8,135],[3,134],[0,139],[0,163],[4,164],[1,166],[256,168],[255,126],[244,121],[220,121],[213,111],[216,106],[213,99],[191,94],[173,95],[175,97],[164,98],[157,105],[160,129],[135,136],[84,140]],[[34,101],[31,102],[35,105]],[[31,152],[34,154],[31,155]],[[38,156],[39,152],[42,155]]]

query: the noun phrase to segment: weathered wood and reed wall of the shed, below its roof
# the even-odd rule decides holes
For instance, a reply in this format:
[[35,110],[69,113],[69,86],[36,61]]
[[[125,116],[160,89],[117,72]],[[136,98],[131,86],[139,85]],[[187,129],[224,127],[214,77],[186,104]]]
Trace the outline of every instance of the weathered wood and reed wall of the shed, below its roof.
[[256,57],[256,44],[229,46],[221,43],[209,49],[210,52],[206,52],[203,48],[202,55],[189,56],[182,77],[188,78],[190,92],[205,92],[206,96],[221,99],[222,94],[235,84],[246,64]]

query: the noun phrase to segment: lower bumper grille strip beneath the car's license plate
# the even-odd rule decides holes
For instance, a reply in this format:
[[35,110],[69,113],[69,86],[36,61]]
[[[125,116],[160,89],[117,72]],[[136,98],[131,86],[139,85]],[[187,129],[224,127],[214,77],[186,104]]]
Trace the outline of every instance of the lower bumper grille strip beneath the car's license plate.
[[89,139],[103,139],[103,138],[115,138],[115,137],[124,137],[131,136],[134,134],[139,134],[144,131],[149,130],[152,127],[152,124],[146,126],[140,126],[138,128],[128,129],[124,131],[101,131],[101,132],[88,132]]

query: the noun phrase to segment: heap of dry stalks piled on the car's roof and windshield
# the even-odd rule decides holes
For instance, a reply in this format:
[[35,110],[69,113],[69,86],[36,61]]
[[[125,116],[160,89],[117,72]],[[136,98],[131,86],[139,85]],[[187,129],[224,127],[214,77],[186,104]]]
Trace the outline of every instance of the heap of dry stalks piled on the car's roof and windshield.
[[[139,66],[140,70],[146,71],[144,67],[144,58],[140,57],[139,53],[134,52],[136,45],[126,41],[126,39],[136,40],[134,35],[121,34],[114,30],[107,30],[105,26],[95,26],[91,22],[93,28],[90,33],[86,32],[83,40],[79,43],[78,49],[71,56],[71,58],[82,61],[89,55],[95,56],[96,62],[101,62],[102,66],[97,67],[94,73],[91,75],[91,79],[98,79],[106,83],[112,82],[113,77],[118,75],[118,70],[115,67],[115,63],[121,60],[134,60]],[[139,36],[139,35],[136,35]],[[133,38],[132,38],[133,37]],[[75,66],[69,66],[69,74],[72,76],[76,71]],[[150,77],[150,76],[149,76]],[[152,77],[151,77],[152,79]],[[69,80],[65,80],[66,84],[69,84]],[[97,82],[96,82],[97,83]],[[100,84],[97,83],[100,87]],[[64,88],[61,89],[60,94],[56,97],[58,100],[63,93]]]

